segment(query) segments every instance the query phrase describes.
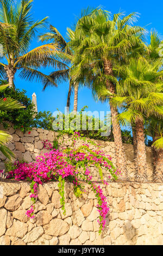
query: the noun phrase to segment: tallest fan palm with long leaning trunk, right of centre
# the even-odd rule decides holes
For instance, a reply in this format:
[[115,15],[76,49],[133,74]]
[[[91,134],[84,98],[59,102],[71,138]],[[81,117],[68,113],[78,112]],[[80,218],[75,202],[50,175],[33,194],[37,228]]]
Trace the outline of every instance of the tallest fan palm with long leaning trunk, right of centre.
[[[121,16],[121,13],[115,14],[110,20],[110,13],[96,9],[92,15],[85,16],[78,22],[78,29],[83,34],[84,40],[78,47],[78,54],[81,57],[77,56],[76,61],[73,60],[73,76],[82,75],[83,67],[86,66],[86,69],[89,68],[89,72],[85,71],[85,76],[89,74],[89,79],[92,77],[92,87],[95,88],[104,83],[110,92],[110,98],[116,94],[115,64],[124,62],[135,55],[141,45],[144,31],[141,27],[131,26],[131,23],[136,21],[135,13],[125,16],[123,19]],[[121,127],[117,120],[117,108],[111,104],[111,101],[110,110],[117,167],[125,175],[127,172],[126,155],[123,149]]]

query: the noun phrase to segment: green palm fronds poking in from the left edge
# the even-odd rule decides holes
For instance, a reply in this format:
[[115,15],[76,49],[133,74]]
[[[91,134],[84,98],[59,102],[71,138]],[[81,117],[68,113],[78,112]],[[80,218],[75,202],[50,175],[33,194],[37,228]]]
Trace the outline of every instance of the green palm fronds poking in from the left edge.
[[[9,84],[0,86],[0,92],[2,92],[8,86]],[[12,110],[17,108],[24,108],[24,106],[18,103],[16,100],[12,100],[11,98],[0,99],[0,111]],[[10,141],[12,141],[12,136],[5,131],[0,131],[0,151],[3,153],[3,155],[5,155],[5,157],[8,157],[8,159],[14,157],[12,151],[5,145],[8,144]]]

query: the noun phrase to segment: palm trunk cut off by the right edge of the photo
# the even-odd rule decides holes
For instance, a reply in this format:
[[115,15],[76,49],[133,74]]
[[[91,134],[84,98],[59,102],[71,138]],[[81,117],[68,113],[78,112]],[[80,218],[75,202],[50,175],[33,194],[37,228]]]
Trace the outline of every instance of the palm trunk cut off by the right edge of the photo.
[[155,162],[155,172],[154,172],[154,181],[162,182],[163,181],[163,149],[155,151],[156,162]]

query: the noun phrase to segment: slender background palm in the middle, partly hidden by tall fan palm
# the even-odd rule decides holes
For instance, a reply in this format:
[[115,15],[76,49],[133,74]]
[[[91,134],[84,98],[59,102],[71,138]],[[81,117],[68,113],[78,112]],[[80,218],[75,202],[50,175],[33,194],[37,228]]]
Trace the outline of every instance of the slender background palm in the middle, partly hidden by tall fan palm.
[[[89,16],[92,13],[92,9],[87,8],[82,10],[82,17]],[[81,19],[81,18],[80,18]],[[80,20],[79,19],[79,20]],[[67,107],[70,107],[70,97],[72,94],[72,89],[74,89],[74,103],[73,111],[77,112],[78,109],[78,89],[79,85],[83,84],[83,75],[78,76],[76,80],[73,80],[73,75],[71,74],[71,66],[73,65],[73,60],[76,57],[79,58],[79,54],[76,53],[76,50],[80,43],[82,42],[84,34],[79,33],[78,31],[78,21],[73,26],[73,29],[67,28],[67,41],[60,34],[57,28],[50,26],[50,32],[40,36],[40,40],[48,41],[51,40],[54,44],[58,45],[59,52],[57,53],[57,60],[65,66],[58,66],[57,71],[53,71],[49,77],[51,77],[55,83],[60,83],[62,81],[69,81],[69,90],[67,96]],[[75,44],[73,42],[75,41]],[[68,66],[67,66],[68,65]],[[45,81],[43,90],[49,84]]]

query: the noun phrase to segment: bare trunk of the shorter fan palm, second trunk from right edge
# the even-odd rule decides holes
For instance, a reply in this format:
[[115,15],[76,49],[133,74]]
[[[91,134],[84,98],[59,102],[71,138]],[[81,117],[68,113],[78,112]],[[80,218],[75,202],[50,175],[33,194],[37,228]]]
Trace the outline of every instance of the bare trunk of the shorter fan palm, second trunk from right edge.
[[144,125],[143,121],[140,119],[136,119],[136,180],[137,181],[146,181],[146,145],[145,145],[145,133],[144,133]]

